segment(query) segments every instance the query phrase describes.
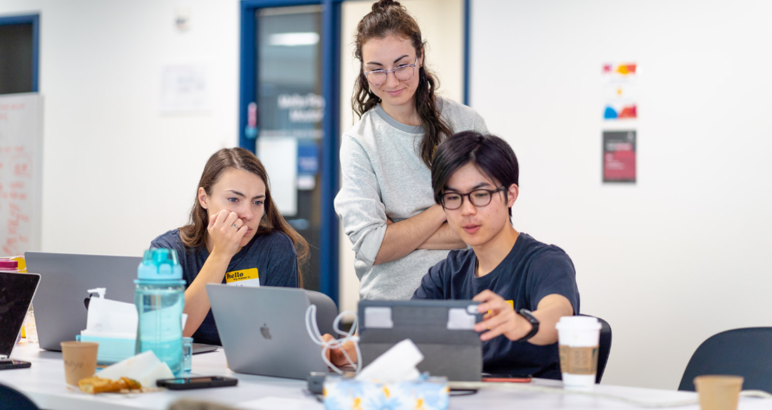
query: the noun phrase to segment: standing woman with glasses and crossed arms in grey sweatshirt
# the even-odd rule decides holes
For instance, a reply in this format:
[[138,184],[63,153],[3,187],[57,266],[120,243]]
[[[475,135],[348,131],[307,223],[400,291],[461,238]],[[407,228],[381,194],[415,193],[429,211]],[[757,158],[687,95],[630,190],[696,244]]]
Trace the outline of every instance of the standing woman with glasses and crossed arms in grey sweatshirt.
[[360,119],[340,141],[335,211],[354,244],[360,299],[410,299],[429,267],[466,247],[435,204],[432,153],[449,135],[487,128],[471,108],[435,96],[421,29],[398,2],[375,3],[354,42]]

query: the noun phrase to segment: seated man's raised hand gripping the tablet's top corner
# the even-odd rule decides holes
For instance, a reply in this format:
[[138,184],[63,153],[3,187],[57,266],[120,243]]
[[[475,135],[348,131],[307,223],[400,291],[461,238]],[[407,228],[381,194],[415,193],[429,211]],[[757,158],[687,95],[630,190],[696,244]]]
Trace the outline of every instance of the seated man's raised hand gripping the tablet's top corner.
[[488,330],[480,335],[481,341],[489,341],[502,334],[510,341],[517,341],[530,332],[532,325],[528,320],[515,313],[512,305],[493,291],[483,290],[472,300],[480,302],[477,311],[485,313],[482,321],[475,324],[476,332]]

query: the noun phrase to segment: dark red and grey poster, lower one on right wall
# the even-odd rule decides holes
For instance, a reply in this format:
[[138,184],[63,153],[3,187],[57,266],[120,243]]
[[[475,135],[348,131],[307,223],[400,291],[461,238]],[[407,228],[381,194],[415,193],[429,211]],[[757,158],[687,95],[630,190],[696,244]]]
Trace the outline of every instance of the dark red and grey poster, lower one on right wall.
[[635,130],[603,131],[603,181],[635,182]]

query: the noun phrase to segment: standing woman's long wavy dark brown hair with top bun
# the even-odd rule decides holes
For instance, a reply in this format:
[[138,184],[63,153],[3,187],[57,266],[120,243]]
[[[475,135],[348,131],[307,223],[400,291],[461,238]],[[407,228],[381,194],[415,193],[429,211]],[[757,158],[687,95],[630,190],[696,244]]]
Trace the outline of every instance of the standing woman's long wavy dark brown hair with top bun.
[[426,56],[424,49],[426,42],[422,40],[421,29],[415,19],[408,14],[405,6],[392,0],[380,0],[374,3],[372,12],[365,15],[357,25],[357,33],[354,35],[354,57],[359,59],[359,76],[354,81],[354,95],[351,97],[351,106],[357,116],[362,117],[367,110],[381,102],[371,92],[364,75],[364,62],[362,61],[362,46],[370,39],[384,39],[387,36],[398,36],[409,39],[415,48],[415,56],[424,54],[424,63],[418,67],[418,90],[415,90],[413,102],[418,117],[421,118],[425,130],[421,141],[419,156],[427,167],[432,167],[432,152],[443,137],[452,134],[450,126],[442,120],[437,107],[435,90],[439,81],[426,69]]

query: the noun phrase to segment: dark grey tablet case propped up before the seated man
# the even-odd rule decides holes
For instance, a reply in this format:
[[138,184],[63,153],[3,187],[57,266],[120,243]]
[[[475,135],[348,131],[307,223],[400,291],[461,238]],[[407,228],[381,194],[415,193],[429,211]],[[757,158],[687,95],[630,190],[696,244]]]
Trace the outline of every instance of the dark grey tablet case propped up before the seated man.
[[361,300],[359,346],[367,366],[399,341],[410,339],[424,355],[419,371],[451,381],[480,381],[482,320],[472,300]]

